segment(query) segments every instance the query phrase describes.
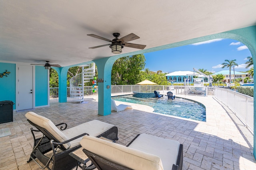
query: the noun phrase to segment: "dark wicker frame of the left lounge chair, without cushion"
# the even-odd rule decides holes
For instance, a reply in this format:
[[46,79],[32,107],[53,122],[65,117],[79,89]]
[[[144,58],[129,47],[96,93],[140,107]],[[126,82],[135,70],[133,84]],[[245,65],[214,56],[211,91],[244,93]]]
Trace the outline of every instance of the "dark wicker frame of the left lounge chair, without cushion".
[[[70,169],[74,168],[75,166],[77,166],[78,163],[77,163],[76,159],[74,159],[72,156],[70,156],[69,153],[80,148],[81,145],[77,145],[75,147],[66,149],[63,146],[63,144],[73,141],[74,139],[80,138],[84,135],[88,135],[87,133],[83,133],[77,137],[74,137],[72,139],[69,139],[67,141],[60,143],[46,129],[32,123],[28,119],[27,119],[27,121],[31,125],[36,127],[36,129],[38,129],[38,130],[36,130],[36,129],[30,128],[30,131],[31,131],[31,133],[33,135],[33,139],[34,139],[34,147],[30,154],[30,158],[27,162],[34,160],[34,162],[36,162],[36,164],[38,164],[38,166],[41,169],[47,168],[48,170],[70,170]],[[64,125],[64,127],[63,126],[60,127],[60,130],[65,130],[67,128],[66,123],[60,123],[56,126],[60,126],[60,125]],[[43,134],[43,136],[40,138],[36,138],[35,134],[34,134],[35,132],[41,132]],[[97,137],[103,136],[103,137],[106,137],[108,139],[115,141],[115,140],[118,140],[117,135],[118,135],[118,129],[116,126],[114,126],[110,129],[108,129],[107,131],[105,131],[104,133],[98,135]],[[57,149],[61,149],[62,152],[55,152]],[[46,153],[48,153],[49,151],[52,151],[52,150],[54,150],[54,152],[52,152],[52,154],[47,155],[47,156],[45,155]],[[48,157],[48,156],[50,156],[50,157]],[[35,158],[38,158],[38,160],[44,166],[41,166],[38,163],[38,161],[35,160]]]

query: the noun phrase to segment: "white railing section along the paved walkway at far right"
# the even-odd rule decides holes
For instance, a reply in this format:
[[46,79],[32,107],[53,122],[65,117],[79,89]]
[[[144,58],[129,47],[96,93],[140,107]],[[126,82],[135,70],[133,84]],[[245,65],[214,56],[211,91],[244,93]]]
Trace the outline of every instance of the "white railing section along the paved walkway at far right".
[[233,90],[216,88],[215,98],[228,106],[228,108],[230,108],[253,133],[253,97],[235,92]]

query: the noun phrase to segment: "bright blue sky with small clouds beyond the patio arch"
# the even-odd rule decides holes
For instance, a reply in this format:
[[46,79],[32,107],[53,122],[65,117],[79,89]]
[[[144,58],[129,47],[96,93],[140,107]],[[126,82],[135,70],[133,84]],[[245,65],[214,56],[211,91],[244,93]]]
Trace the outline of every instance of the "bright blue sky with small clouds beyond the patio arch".
[[214,39],[161,51],[144,54],[145,68],[163,72],[193,71],[193,68],[204,68],[210,72],[229,70],[221,68],[226,59],[234,60],[239,66],[235,71],[246,71],[246,57],[252,56],[249,49],[234,39]]

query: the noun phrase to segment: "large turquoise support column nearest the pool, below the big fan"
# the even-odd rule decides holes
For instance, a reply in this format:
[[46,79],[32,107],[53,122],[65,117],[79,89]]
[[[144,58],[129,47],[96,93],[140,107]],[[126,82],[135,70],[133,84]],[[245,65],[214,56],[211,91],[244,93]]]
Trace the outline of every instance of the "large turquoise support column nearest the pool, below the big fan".
[[98,115],[111,114],[111,70],[115,57],[95,60],[98,68]]

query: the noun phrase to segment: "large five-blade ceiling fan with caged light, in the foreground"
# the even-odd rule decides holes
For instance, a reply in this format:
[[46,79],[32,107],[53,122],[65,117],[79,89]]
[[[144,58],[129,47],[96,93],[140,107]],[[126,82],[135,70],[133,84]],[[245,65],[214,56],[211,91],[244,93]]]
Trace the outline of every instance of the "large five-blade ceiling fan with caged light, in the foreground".
[[111,44],[105,44],[105,45],[99,45],[99,46],[96,46],[96,47],[90,47],[89,49],[96,49],[96,48],[99,48],[99,47],[104,47],[104,46],[109,45],[109,47],[112,49],[112,53],[119,54],[119,53],[122,53],[122,48],[124,48],[124,47],[130,47],[130,48],[136,48],[136,49],[144,49],[146,47],[146,45],[127,43],[128,41],[132,41],[134,39],[139,39],[140,38],[137,35],[135,35],[134,33],[130,33],[129,35],[126,35],[126,36],[118,39],[119,35],[120,35],[120,33],[113,33],[113,36],[115,38],[110,40],[110,39],[106,39],[104,37],[100,37],[98,35],[88,34],[88,36],[111,42]]

